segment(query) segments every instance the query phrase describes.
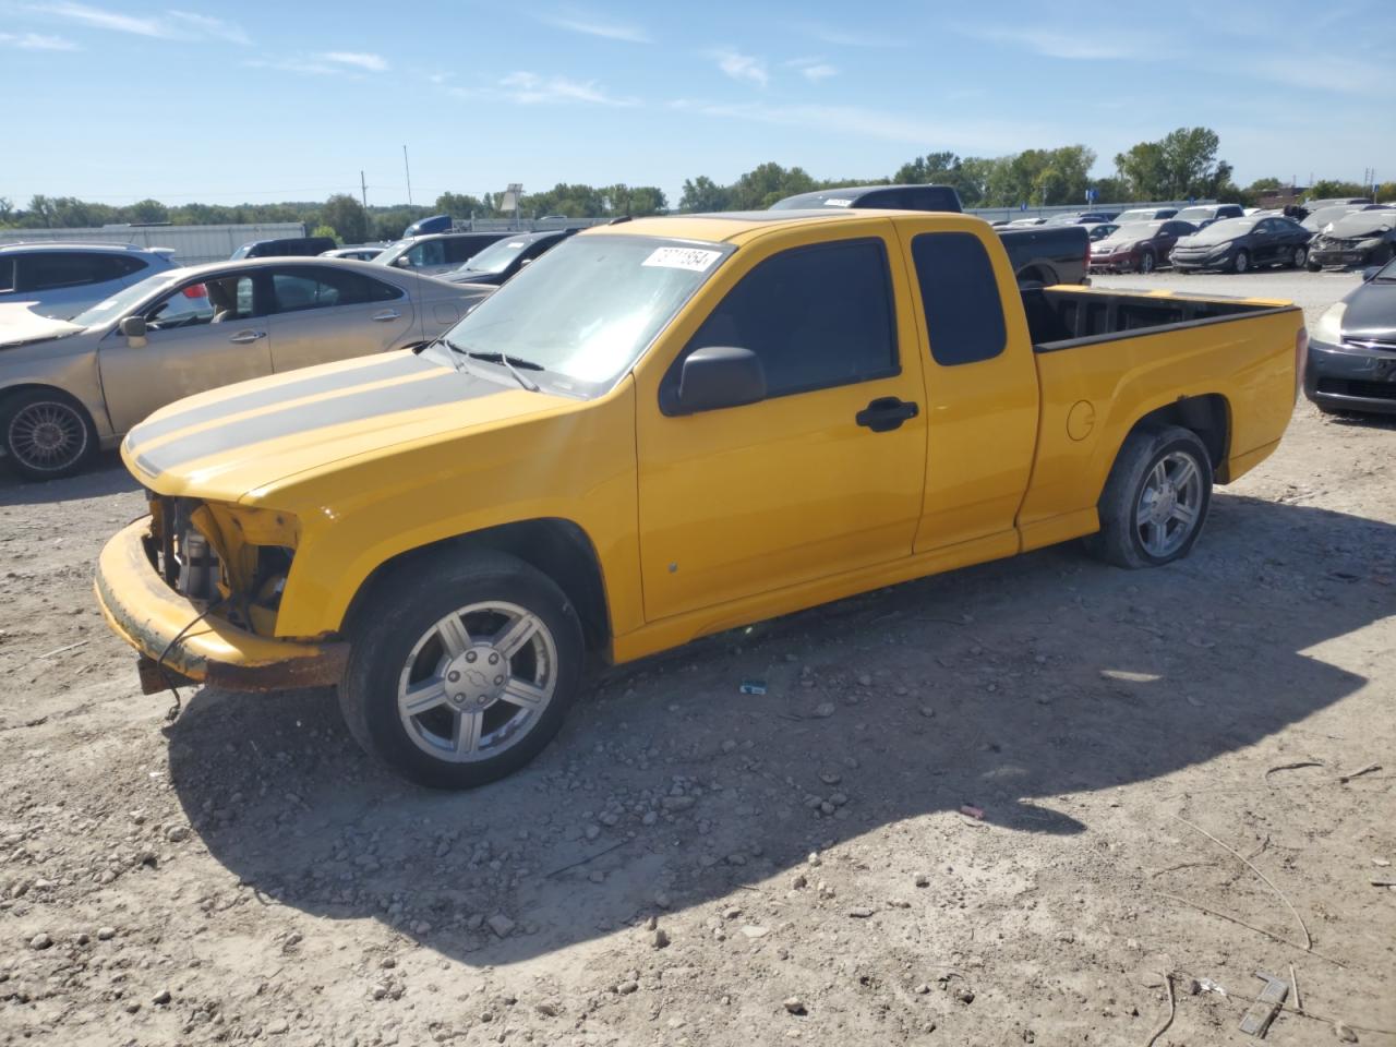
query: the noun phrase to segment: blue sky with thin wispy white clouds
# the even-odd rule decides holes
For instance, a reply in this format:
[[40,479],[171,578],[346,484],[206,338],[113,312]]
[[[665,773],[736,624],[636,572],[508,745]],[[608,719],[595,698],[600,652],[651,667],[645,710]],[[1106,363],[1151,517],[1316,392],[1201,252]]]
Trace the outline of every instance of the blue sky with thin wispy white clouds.
[[[166,6],[173,4],[173,6]],[[1396,180],[1393,0],[0,0],[0,197],[370,204],[879,177],[1208,126],[1238,184]]]

